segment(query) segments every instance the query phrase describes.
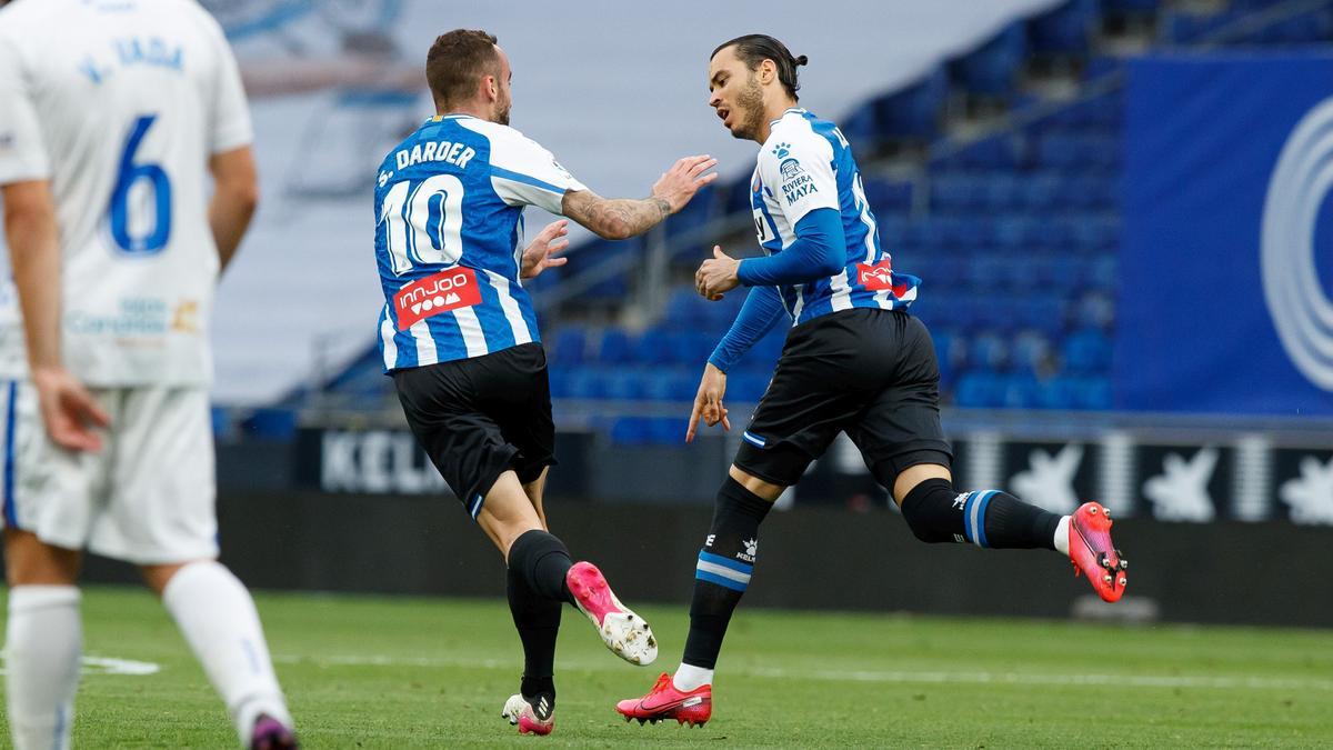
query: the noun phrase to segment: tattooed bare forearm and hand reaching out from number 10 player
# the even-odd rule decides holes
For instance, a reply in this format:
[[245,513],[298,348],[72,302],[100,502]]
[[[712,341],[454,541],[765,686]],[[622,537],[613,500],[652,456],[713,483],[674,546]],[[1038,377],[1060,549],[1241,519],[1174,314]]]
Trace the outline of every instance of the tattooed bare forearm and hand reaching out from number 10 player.
[[717,159],[710,156],[686,156],[666,169],[653,183],[652,195],[644,199],[603,198],[591,190],[569,191],[561,200],[560,212],[603,239],[637,236],[684,208],[698,188],[716,180],[717,172],[708,172],[714,165]]

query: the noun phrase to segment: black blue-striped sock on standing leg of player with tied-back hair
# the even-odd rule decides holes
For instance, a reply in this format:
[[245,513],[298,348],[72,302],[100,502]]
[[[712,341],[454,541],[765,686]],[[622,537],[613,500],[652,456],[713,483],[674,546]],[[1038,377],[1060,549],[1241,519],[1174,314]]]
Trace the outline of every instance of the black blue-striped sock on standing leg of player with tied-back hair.
[[689,605],[689,637],[682,663],[702,669],[717,666],[726,626],[754,570],[758,524],[772,508],[773,503],[730,476],[722,482],[713,506],[713,524],[694,567],[694,597]]

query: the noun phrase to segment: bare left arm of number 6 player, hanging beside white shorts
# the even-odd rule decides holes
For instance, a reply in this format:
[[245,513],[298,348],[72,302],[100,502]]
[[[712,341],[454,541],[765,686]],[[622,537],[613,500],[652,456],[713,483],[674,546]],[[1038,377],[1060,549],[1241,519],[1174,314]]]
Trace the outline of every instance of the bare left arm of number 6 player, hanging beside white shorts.
[[0,194],[13,283],[23,310],[28,364],[47,432],[68,450],[101,450],[101,438],[93,427],[105,427],[109,419],[61,359],[60,239],[51,183],[11,183]]

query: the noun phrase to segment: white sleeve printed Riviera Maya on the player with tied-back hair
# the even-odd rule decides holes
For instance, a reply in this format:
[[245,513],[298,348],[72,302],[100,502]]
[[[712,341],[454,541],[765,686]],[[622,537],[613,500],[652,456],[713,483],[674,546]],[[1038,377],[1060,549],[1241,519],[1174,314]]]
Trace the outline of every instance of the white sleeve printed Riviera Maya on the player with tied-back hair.
[[838,211],[833,147],[814,132],[786,128],[774,133],[760,152],[758,168],[764,184],[773,185],[788,224],[794,227],[816,208]]

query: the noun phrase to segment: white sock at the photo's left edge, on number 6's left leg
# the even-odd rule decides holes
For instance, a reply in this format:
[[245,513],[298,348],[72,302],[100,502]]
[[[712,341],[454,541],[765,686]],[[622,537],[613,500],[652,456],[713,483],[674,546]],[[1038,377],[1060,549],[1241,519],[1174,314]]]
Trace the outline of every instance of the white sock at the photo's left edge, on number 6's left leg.
[[5,633],[9,731],[17,750],[65,750],[79,690],[79,589],[15,586]]

